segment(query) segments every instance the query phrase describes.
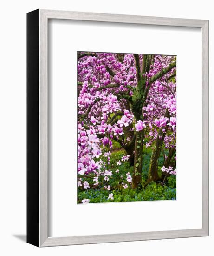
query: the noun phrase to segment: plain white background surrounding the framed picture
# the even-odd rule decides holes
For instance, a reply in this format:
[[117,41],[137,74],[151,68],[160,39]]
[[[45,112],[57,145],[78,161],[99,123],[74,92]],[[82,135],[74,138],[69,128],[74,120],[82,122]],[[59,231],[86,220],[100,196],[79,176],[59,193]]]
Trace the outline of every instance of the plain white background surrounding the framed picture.
[[[210,236],[129,243],[36,248],[26,237],[26,13],[37,8],[210,20]],[[212,1],[5,1],[0,13],[0,254],[213,255],[214,28]],[[187,106],[188,106],[187,102]],[[192,181],[194,182],[194,181]],[[191,197],[191,195],[189,195]],[[191,198],[190,198],[191,199]],[[176,220],[175,220],[176,222]]]

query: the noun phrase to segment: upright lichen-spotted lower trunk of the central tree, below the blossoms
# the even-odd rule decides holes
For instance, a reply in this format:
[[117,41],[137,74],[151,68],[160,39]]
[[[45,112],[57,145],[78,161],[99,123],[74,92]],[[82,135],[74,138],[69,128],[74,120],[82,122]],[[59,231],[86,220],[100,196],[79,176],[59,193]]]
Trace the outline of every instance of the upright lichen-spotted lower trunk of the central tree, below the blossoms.
[[142,154],[143,154],[143,136],[144,132],[135,132],[135,160],[134,160],[134,171],[132,179],[132,188],[136,189],[141,182],[142,172]]

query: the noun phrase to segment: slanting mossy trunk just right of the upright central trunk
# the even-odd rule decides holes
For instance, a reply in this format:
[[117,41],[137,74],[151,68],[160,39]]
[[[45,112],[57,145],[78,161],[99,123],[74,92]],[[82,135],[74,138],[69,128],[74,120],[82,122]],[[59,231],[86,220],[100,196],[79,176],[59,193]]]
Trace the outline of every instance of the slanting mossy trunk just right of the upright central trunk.
[[162,132],[162,129],[160,129],[156,138],[155,146],[152,150],[152,155],[149,163],[148,182],[159,180],[159,175],[157,172],[158,159],[161,154],[162,144],[163,144],[165,135],[166,134]]

